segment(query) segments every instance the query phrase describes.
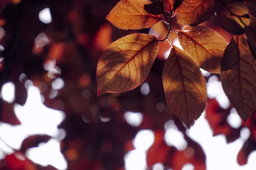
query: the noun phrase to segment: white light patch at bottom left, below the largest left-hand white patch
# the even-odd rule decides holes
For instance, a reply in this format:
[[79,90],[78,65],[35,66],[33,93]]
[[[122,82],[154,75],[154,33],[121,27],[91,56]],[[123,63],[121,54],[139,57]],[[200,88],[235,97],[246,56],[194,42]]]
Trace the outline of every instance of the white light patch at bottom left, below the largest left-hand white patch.
[[28,149],[26,157],[42,166],[52,165],[58,170],[67,169],[67,161],[60,151],[60,142],[55,139]]

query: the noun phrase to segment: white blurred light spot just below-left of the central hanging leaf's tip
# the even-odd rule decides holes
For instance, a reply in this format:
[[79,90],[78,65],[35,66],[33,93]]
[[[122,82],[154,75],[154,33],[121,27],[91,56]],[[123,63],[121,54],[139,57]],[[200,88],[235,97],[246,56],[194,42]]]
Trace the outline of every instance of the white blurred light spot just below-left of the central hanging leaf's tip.
[[187,147],[187,142],[184,139],[183,133],[181,133],[173,120],[169,120],[164,125],[166,133],[164,135],[164,140],[169,146],[175,146],[177,150],[184,150]]

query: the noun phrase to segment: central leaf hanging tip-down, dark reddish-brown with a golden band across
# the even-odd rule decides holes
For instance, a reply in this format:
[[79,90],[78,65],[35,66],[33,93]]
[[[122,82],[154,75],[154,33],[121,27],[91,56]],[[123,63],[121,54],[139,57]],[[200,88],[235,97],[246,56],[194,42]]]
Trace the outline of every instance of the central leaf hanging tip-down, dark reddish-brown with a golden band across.
[[169,107],[189,128],[204,111],[206,83],[195,60],[176,46],[166,59],[163,88]]

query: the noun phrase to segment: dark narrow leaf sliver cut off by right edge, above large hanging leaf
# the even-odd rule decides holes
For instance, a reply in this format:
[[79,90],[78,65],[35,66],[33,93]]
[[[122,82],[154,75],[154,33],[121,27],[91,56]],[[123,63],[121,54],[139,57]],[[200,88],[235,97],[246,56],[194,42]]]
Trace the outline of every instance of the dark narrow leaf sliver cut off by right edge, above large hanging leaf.
[[253,54],[254,59],[256,59],[256,18],[250,17],[250,25],[246,28],[245,31],[248,45],[251,53]]

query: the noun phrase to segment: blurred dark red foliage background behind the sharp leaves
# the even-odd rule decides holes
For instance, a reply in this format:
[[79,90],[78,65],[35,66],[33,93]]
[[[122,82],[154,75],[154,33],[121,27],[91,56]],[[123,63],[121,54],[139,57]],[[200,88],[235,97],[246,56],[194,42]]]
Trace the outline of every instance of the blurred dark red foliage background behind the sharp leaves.
[[[1,170],[181,170],[188,163],[192,169],[206,169],[207,156],[201,144],[192,139],[189,130],[166,104],[162,71],[170,50],[168,42],[160,42],[157,59],[140,87],[122,94],[97,97],[96,66],[102,51],[111,42],[139,32],[163,39],[168,31],[163,22],[139,31],[115,28],[105,17],[118,1],[0,0]],[[232,38],[219,26],[216,15],[202,25],[218,31],[227,42]],[[182,28],[174,18],[172,29]],[[178,43],[175,32],[171,32],[169,38]],[[211,82],[219,83],[218,74],[204,75],[207,82],[212,79]],[[5,85],[15,87],[13,98],[8,99],[12,93],[8,88],[4,92]],[[35,130],[19,138],[22,140],[15,147],[8,140],[17,142],[18,133],[11,129],[26,125],[21,121],[26,110],[21,108],[26,102],[29,103],[29,89],[32,89],[31,95],[40,92],[40,101],[47,109],[61,111],[58,113],[64,116],[56,123],[56,135]],[[213,136],[222,135],[227,143],[245,136],[237,161],[240,165],[247,164],[248,156],[256,150],[256,112],[243,123],[228,101],[223,104],[218,95],[208,97],[206,113],[201,119],[206,117]],[[36,99],[31,97],[32,101]],[[222,102],[225,102],[224,99]],[[35,108],[32,115],[39,112],[36,109],[39,108]],[[45,129],[49,127],[49,122],[55,119],[55,112],[45,111],[47,118],[44,120],[36,119],[37,116],[27,117],[28,122],[35,124],[35,127],[32,125],[29,128],[36,129],[38,123],[43,124]],[[4,129],[7,126],[9,130]],[[180,143],[184,143],[182,141],[178,141],[177,146],[168,142],[166,138],[172,140],[177,137],[168,137],[168,129],[176,130],[185,141],[185,146],[178,148]],[[244,130],[246,134],[240,136]],[[197,133],[200,135],[202,132]],[[7,139],[10,136],[12,138]],[[53,139],[57,141],[55,149],[64,156],[63,166],[43,164],[40,163],[42,161],[35,161],[35,156],[29,156],[29,149],[42,147]],[[139,146],[144,147],[141,153],[146,153],[143,156],[147,166],[144,164],[141,167],[139,163],[128,161],[128,156],[137,158],[137,153],[132,155],[131,151],[138,150]],[[51,150],[48,154],[52,154]],[[57,160],[53,157],[52,161]]]

